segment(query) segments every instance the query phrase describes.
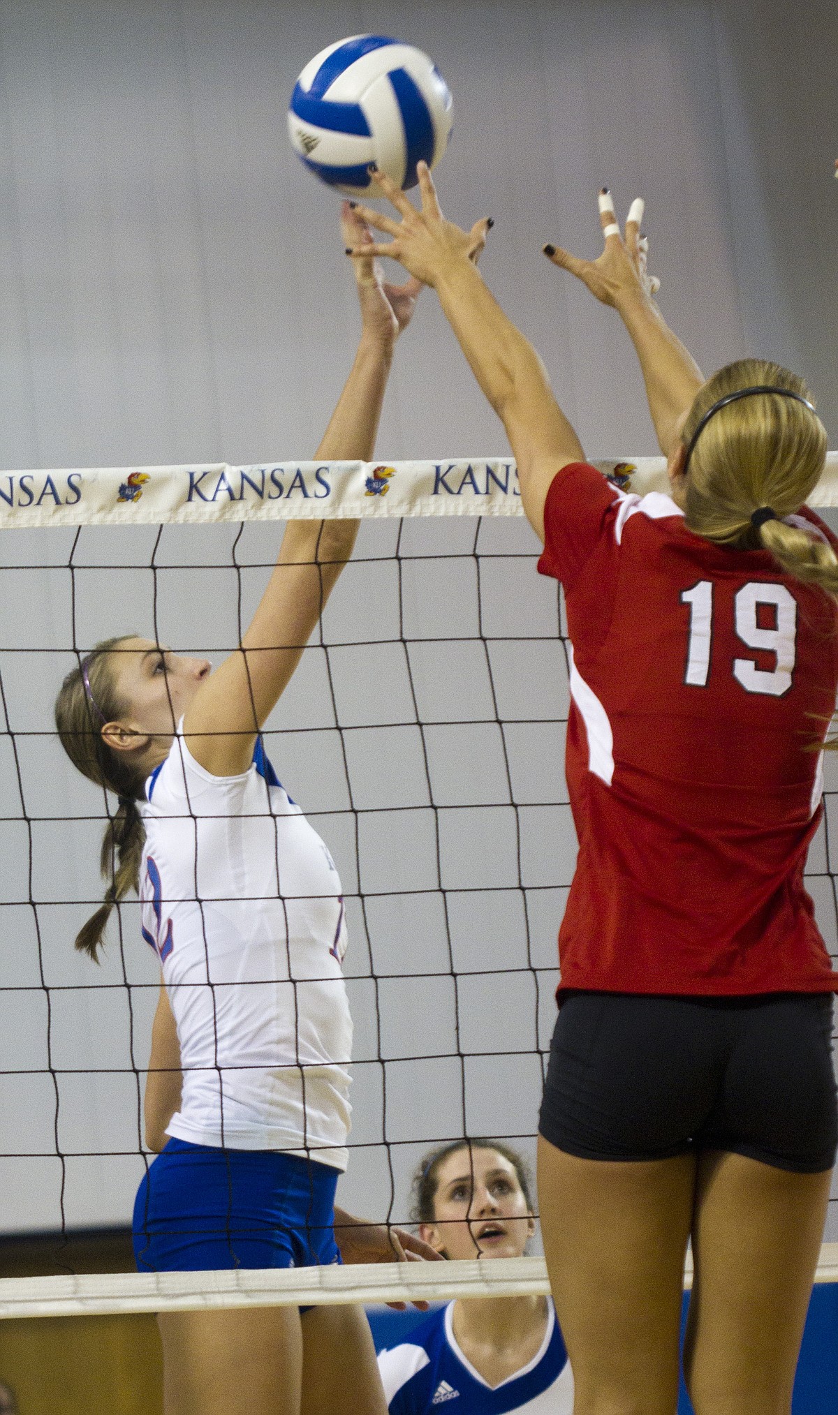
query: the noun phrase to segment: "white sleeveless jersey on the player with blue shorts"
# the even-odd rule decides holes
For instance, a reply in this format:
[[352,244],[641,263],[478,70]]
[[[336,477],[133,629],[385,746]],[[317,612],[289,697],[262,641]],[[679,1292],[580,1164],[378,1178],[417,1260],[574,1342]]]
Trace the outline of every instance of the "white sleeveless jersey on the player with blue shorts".
[[256,741],[215,777],[176,736],[149,777],[140,874],[180,1041],[168,1135],[345,1169],[352,1023],[334,862]]

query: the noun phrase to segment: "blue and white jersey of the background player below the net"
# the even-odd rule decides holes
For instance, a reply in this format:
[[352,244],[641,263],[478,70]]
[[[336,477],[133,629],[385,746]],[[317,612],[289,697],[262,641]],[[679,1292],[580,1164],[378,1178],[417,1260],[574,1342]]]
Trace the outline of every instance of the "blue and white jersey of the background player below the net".
[[391,1415],[573,1415],[573,1375],[556,1313],[548,1298],[541,1348],[528,1365],[500,1385],[488,1385],[453,1332],[454,1303],[413,1327],[401,1346],[378,1356]]

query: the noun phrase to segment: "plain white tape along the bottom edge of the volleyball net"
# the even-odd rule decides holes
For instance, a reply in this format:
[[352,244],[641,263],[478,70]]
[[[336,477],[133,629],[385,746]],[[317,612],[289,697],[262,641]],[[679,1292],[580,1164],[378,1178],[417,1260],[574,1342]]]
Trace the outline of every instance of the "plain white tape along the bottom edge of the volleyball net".
[[[815,1282],[838,1282],[838,1242],[824,1244]],[[692,1286],[692,1261],[684,1288]],[[222,1272],[115,1272],[0,1281],[0,1317],[198,1312],[212,1307],[327,1306],[348,1302],[450,1302],[549,1292],[544,1258],[388,1262]]]

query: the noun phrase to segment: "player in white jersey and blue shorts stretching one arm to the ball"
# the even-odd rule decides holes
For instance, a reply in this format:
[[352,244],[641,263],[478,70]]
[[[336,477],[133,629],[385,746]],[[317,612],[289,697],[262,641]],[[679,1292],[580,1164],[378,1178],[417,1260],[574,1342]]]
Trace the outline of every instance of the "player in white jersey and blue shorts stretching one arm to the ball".
[[[364,226],[348,204],[344,245]],[[369,233],[367,232],[367,236]],[[398,334],[419,283],[355,262],[361,341],[317,457],[368,460]],[[105,904],[76,947],[96,958],[115,901],[140,887],[160,957],[146,1129],[140,1271],[338,1261],[351,1019],[341,884],[276,778],[263,726],[351,555],[357,521],[292,521],[241,649],[215,671],[127,635],[88,654],[57,702],[75,766],[117,795]],[[337,1210],[343,1257],[426,1257],[419,1240]],[[167,1415],[382,1415],[360,1307],[163,1313]],[[304,1391],[304,1405],[303,1392]]]

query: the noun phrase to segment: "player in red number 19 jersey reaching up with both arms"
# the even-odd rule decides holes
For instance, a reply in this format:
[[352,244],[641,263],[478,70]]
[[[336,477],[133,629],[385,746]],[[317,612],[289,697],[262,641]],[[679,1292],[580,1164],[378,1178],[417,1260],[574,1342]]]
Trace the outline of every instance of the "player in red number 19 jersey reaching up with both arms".
[[838,682],[835,542],[804,502],[827,436],[803,379],[704,381],[651,299],[637,221],[548,248],[634,340],[671,491],[609,485],[422,170],[361,208],[436,287],[518,460],[572,641],[579,857],[539,1122],[539,1213],[576,1415],[672,1415],[687,1242],[696,1415],[784,1415],[835,1160],[832,992],[803,884]]

